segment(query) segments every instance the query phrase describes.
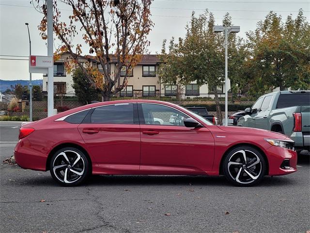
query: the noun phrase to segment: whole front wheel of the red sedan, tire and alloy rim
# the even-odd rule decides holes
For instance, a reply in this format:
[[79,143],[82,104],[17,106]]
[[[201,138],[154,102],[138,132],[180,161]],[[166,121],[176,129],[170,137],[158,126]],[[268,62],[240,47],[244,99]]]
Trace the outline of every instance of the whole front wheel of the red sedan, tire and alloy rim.
[[223,173],[226,179],[236,186],[253,186],[260,183],[266,174],[266,169],[262,153],[250,146],[234,148],[226,154],[223,161]]

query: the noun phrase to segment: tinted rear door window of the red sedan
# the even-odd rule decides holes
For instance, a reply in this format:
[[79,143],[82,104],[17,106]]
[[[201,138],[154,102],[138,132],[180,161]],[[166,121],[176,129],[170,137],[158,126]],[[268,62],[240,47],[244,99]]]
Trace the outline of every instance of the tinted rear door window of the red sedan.
[[97,107],[93,110],[91,123],[134,124],[134,105],[128,103]]

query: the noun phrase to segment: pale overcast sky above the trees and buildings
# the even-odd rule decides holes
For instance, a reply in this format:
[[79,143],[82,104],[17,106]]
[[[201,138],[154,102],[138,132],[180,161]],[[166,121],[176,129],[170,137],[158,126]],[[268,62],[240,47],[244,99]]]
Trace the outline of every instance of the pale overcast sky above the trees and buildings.
[[[59,3],[59,8],[69,9]],[[151,53],[160,52],[163,39],[169,40],[185,35],[186,22],[191,12],[202,13],[208,8],[214,13],[216,23],[221,24],[222,17],[229,12],[233,24],[241,28],[239,36],[245,37],[249,30],[255,30],[259,20],[264,19],[269,11],[276,11],[286,18],[295,17],[298,9],[304,10],[310,19],[310,0],[155,0],[152,3],[154,29],[149,35]],[[62,11],[63,15],[70,11]],[[28,56],[29,40],[25,22],[29,23],[31,33],[31,52],[33,55],[47,55],[46,41],[39,35],[37,25],[42,15],[30,4],[30,0],[0,0],[0,79],[29,79],[28,57],[7,57],[3,55]],[[33,79],[42,79],[42,74],[32,74]]]

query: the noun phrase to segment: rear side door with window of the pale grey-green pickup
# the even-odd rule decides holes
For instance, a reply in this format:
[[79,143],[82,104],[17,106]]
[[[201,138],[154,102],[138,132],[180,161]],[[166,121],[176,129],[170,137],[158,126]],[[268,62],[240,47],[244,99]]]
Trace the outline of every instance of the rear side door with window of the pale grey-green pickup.
[[268,116],[270,114],[270,103],[273,95],[265,96],[260,111],[255,116],[255,128],[269,130]]

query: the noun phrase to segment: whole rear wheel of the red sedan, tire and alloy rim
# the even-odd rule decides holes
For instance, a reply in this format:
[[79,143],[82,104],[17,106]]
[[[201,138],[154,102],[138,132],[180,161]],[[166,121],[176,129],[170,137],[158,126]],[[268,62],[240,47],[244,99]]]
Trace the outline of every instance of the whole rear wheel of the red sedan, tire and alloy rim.
[[77,186],[89,176],[90,161],[81,150],[65,147],[53,154],[49,167],[56,182],[62,186]]

